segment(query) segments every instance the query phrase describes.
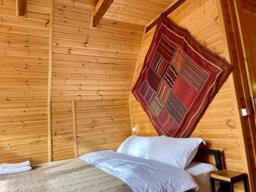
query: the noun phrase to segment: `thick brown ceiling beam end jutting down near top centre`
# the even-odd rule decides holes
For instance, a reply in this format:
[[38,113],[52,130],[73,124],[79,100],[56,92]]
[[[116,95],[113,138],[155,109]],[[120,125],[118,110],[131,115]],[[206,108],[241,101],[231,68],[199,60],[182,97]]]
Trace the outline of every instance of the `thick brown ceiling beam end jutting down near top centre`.
[[99,0],[93,12],[93,27],[96,27],[114,0]]

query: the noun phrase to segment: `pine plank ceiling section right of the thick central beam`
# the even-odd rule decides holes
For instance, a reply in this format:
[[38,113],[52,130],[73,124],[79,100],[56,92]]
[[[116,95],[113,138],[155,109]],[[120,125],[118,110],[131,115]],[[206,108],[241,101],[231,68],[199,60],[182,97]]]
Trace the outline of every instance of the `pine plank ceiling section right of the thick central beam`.
[[174,0],[114,0],[103,17],[144,26],[173,2]]

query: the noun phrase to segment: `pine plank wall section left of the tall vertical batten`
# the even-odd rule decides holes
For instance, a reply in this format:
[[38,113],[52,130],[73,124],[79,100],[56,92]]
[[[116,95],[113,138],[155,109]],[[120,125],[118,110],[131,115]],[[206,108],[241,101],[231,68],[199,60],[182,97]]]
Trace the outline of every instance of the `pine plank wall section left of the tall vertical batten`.
[[48,161],[49,1],[0,3],[0,162]]

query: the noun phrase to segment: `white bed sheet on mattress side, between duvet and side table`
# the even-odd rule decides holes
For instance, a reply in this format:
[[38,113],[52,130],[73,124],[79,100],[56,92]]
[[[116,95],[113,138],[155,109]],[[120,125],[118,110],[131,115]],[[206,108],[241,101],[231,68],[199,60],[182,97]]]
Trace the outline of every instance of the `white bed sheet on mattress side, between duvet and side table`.
[[216,172],[216,166],[192,161],[185,170],[193,175],[195,181],[199,185],[197,192],[211,192],[210,173]]

